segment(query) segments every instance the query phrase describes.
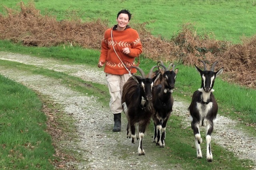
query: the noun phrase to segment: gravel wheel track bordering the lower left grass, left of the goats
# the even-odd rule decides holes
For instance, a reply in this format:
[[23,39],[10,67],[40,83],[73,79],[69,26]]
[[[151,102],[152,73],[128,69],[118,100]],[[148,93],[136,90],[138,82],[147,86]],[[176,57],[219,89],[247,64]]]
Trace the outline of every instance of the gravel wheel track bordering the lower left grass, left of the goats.
[[[62,105],[64,112],[72,115],[76,120],[75,126],[78,139],[66,141],[69,148],[82,156],[82,162],[69,162],[68,166],[77,166],[78,169],[166,169],[155,160],[153,154],[148,154],[148,161],[138,159],[133,153],[134,145],[126,140],[120,133],[112,133],[112,115],[108,116],[107,108],[99,107],[97,99],[75,92],[60,84],[60,81],[42,75],[32,75],[25,71],[15,69],[0,69],[0,74],[24,84],[28,88],[49,96],[51,100]],[[125,126],[122,127],[122,132]],[[116,140],[118,138],[118,140]],[[75,142],[78,140],[78,142]],[[121,144],[121,146],[119,146]],[[129,157],[122,159],[122,153],[116,153],[120,147],[125,146],[130,153]],[[128,147],[127,147],[128,146]],[[113,154],[114,153],[114,154]]]

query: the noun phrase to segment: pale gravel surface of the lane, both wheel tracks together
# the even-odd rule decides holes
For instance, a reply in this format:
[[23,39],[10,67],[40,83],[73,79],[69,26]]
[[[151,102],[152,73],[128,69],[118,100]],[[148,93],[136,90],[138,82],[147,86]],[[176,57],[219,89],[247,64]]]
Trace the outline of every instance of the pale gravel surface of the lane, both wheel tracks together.
[[[102,69],[92,68],[86,65],[66,64],[66,62],[54,59],[42,59],[14,53],[0,52],[0,60],[15,61],[31,64],[37,67],[48,68],[58,72],[82,78],[86,81],[106,84],[105,74]],[[68,162],[67,169],[76,166],[78,169],[170,169],[166,164],[159,164],[155,156],[150,152],[152,145],[151,136],[144,138],[144,149],[146,155],[143,159],[138,156],[138,143],[131,144],[126,139],[126,120],[122,119],[122,130],[120,133],[112,133],[113,116],[108,108],[99,107],[96,98],[81,94],[63,86],[56,79],[42,75],[31,74],[25,71],[0,68],[0,74],[24,84],[38,94],[48,96],[54,102],[62,106],[63,111],[72,115],[78,138],[66,141],[66,147],[72,148],[82,155],[84,162]],[[188,103],[174,102],[173,115],[184,118],[184,128],[190,127],[188,119]],[[123,116],[124,117],[124,116]],[[228,117],[218,116],[214,126],[212,141],[218,145],[234,152],[238,158],[247,158],[256,164],[256,139],[250,137],[235,127],[236,121]],[[203,141],[205,142],[205,141]],[[118,149],[118,150],[117,150]],[[120,152],[127,152],[128,156],[122,158]],[[130,156],[134,155],[134,156]],[[169,165],[170,167],[170,165]],[[174,167],[174,166],[171,166]],[[175,167],[175,169],[181,169]],[[256,167],[252,167],[256,169]]]

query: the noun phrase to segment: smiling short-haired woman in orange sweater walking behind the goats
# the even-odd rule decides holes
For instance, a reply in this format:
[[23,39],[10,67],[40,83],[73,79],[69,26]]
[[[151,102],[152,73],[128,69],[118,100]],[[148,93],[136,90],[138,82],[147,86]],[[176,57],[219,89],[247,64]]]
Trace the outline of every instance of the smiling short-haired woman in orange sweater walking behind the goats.
[[98,67],[104,66],[106,80],[110,93],[110,110],[114,114],[114,128],[121,131],[122,89],[132,73],[136,72],[134,59],[142,53],[140,37],[128,23],[131,14],[128,10],[121,10],[117,14],[117,25],[107,29],[101,43]]

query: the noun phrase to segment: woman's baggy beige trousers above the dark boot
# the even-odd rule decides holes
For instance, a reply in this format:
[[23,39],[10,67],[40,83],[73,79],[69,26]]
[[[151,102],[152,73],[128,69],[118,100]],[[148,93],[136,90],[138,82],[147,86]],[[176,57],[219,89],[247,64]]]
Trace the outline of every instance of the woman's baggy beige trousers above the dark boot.
[[114,75],[114,74],[106,74],[106,79],[108,83],[108,90],[110,94],[110,111],[113,114],[121,113],[123,111],[121,99],[122,99],[122,91],[123,86],[127,82],[127,80],[132,75],[124,74],[124,75]]

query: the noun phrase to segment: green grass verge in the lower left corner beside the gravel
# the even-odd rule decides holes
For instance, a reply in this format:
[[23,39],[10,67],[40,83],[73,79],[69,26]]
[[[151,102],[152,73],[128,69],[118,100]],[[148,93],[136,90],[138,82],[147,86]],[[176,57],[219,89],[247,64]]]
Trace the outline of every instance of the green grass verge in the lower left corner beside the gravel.
[[0,169],[53,169],[46,115],[35,92],[0,75]]

